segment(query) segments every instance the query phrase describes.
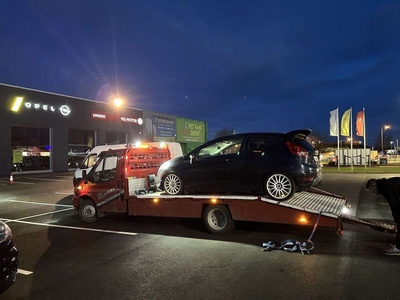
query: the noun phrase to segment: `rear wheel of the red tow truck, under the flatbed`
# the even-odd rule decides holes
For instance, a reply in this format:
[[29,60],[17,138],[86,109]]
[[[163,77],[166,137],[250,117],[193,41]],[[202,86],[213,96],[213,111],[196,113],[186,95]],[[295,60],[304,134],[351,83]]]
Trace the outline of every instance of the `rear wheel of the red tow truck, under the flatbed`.
[[224,205],[209,205],[204,210],[203,222],[213,234],[224,234],[235,228],[228,208]]

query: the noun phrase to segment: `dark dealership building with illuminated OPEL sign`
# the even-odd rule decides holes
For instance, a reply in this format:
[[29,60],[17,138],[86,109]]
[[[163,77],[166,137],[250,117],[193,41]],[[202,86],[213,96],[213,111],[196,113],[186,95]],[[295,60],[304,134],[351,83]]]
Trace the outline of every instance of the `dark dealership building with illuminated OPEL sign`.
[[75,169],[97,145],[178,142],[187,153],[207,123],[0,84],[0,175]]

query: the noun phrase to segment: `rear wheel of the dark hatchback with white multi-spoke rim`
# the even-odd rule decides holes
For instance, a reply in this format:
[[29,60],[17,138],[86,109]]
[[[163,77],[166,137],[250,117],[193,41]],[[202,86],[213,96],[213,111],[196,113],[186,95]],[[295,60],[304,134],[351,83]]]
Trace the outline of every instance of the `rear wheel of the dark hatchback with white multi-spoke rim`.
[[267,195],[278,201],[290,199],[295,192],[295,184],[289,175],[275,172],[265,180],[265,192]]

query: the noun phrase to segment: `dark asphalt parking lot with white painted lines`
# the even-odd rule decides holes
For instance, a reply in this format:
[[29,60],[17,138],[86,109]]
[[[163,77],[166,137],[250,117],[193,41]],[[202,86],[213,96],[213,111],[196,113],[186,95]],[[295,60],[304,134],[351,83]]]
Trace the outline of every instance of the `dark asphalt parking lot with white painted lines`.
[[[324,174],[318,188],[345,196],[350,214],[392,222],[369,178]],[[71,206],[72,173],[0,178],[0,218],[20,253],[20,273],[0,299],[397,299],[400,257],[381,250],[394,236],[344,224],[317,228],[309,255],[261,251],[306,240],[309,227],[243,222],[223,236],[201,220],[109,215],[83,223]]]

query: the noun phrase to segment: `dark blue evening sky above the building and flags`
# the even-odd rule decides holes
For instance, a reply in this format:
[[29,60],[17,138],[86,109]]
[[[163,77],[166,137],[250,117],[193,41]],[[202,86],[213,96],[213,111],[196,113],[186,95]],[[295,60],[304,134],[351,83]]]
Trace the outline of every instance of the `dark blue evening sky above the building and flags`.
[[[311,128],[365,107],[400,139],[400,3],[369,0],[0,2],[0,82],[208,122]],[[354,133],[355,135],[355,133]],[[333,138],[333,140],[335,140]]]

